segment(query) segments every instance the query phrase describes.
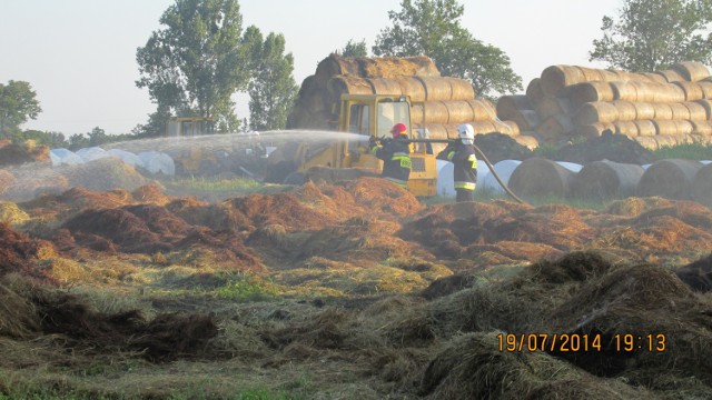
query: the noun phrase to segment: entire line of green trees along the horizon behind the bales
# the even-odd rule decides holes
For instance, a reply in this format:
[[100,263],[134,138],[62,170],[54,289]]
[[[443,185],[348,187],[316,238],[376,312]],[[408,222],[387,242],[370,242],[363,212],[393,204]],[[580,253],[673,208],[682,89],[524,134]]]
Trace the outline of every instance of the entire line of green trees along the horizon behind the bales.
[[[402,0],[390,23],[370,48],[374,56],[431,57],[444,76],[466,79],[477,93],[496,98],[521,91],[522,78],[508,56],[465,29],[458,0]],[[274,130],[286,124],[296,100],[294,57],[281,33],[243,27],[238,0],[176,0],[137,49],[140,79],[156,110],[131,133],[109,136],[99,128],[68,138],[60,132],[22,131],[42,111],[29,82],[0,83],[0,139],[33,139],[77,149],[108,141],[161,136],[171,117],[202,117],[217,131]],[[632,72],[654,71],[683,61],[712,59],[712,0],[624,0],[616,17],[603,17],[603,37],[593,41],[590,61]],[[367,57],[365,40],[336,50]],[[235,112],[236,92],[249,94],[249,122]]]

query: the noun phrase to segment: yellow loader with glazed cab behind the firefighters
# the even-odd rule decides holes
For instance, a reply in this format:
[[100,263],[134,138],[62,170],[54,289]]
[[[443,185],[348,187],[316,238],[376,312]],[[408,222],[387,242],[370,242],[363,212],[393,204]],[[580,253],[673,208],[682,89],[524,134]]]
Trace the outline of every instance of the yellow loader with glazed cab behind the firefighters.
[[[330,121],[333,130],[349,133],[344,140],[293,141],[279,147],[268,158],[267,181],[301,183],[315,176],[353,178],[375,176],[383,169],[383,161],[368,153],[368,140],[390,133],[395,123],[413,127],[411,99],[403,94],[343,94],[338,104],[338,120]],[[409,139],[417,141],[411,129]],[[408,190],[415,196],[435,196],[437,167],[435,156],[425,146],[411,144],[412,170]],[[340,172],[340,173],[339,173]]]

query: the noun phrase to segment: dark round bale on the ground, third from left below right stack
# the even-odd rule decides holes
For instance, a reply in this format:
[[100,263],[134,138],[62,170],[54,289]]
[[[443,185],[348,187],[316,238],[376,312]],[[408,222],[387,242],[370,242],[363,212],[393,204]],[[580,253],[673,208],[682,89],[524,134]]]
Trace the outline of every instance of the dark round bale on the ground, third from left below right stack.
[[660,196],[666,199],[689,200],[692,180],[702,163],[692,160],[668,159],[653,162],[640,183],[636,194],[640,197]]

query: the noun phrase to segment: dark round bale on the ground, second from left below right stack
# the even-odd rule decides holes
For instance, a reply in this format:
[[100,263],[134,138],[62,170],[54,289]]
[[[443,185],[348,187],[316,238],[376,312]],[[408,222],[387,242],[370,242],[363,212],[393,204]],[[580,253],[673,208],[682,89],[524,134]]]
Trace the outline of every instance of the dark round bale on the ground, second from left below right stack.
[[571,194],[580,199],[622,199],[634,196],[645,170],[637,164],[594,161],[574,176]]

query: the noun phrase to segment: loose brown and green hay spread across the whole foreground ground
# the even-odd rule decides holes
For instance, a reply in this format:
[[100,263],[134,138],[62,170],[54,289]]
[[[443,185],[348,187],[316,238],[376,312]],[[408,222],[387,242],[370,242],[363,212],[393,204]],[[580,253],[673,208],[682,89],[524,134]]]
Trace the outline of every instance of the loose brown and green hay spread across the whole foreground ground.
[[360,178],[3,210],[22,213],[0,223],[10,398],[712,392],[712,211],[694,202],[425,204]]

